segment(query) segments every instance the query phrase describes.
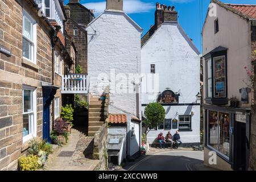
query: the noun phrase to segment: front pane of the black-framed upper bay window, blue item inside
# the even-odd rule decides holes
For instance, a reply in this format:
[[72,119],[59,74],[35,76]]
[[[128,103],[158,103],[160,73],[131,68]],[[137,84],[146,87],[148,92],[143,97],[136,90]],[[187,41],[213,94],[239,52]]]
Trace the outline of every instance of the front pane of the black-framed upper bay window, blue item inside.
[[213,57],[214,98],[226,97],[226,64],[225,56]]

